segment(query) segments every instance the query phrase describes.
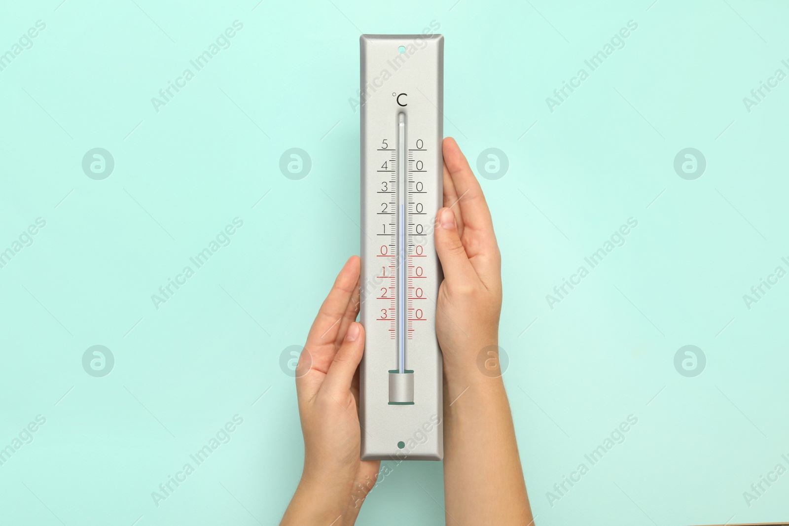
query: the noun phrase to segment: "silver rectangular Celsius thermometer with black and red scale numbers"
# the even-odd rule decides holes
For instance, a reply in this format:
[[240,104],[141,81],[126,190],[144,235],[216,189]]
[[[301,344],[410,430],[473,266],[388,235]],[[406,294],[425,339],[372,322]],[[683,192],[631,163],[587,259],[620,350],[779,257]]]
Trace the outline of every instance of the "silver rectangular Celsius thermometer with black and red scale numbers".
[[361,457],[443,457],[443,36],[362,35]]

